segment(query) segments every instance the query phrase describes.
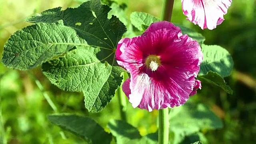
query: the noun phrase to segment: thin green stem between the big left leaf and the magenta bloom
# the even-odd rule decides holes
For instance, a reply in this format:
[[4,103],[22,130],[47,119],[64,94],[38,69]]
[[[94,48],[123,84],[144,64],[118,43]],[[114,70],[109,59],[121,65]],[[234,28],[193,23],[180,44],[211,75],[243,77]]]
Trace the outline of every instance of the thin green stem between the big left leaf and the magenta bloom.
[[[123,73],[123,82],[124,80],[126,80],[128,78],[127,73]],[[127,117],[126,117],[126,106],[127,106],[127,97],[124,94],[124,92],[122,91],[122,86],[120,86],[117,90],[117,96],[118,96],[118,100],[119,100],[119,105],[120,105],[120,116],[121,119],[124,121],[127,121]]]

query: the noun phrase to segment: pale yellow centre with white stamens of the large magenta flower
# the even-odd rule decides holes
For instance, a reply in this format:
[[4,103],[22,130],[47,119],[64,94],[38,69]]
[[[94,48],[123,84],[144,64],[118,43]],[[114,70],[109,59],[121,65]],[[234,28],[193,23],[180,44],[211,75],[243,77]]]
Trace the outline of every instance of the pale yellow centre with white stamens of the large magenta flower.
[[156,71],[160,65],[161,65],[160,56],[149,55],[146,58],[146,66],[147,68],[150,68],[152,71]]

